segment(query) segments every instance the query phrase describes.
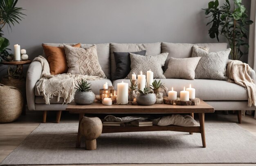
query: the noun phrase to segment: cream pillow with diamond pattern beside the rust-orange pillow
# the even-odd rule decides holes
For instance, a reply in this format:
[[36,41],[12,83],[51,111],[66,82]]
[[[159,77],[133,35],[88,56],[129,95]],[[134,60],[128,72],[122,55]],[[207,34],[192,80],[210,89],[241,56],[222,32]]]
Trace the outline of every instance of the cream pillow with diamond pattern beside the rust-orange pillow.
[[64,49],[67,56],[67,66],[69,67],[67,73],[106,78],[99,64],[96,46],[84,49],[64,44]]

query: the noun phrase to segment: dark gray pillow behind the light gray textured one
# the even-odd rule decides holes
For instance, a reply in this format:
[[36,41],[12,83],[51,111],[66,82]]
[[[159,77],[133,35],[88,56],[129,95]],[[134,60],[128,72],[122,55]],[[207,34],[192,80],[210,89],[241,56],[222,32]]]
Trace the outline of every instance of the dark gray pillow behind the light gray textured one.
[[[112,76],[112,80],[124,79],[129,74],[131,70],[131,59],[129,52],[113,52],[116,62],[116,71],[114,76]],[[146,50],[138,51],[138,52],[130,52],[137,55],[146,55]]]

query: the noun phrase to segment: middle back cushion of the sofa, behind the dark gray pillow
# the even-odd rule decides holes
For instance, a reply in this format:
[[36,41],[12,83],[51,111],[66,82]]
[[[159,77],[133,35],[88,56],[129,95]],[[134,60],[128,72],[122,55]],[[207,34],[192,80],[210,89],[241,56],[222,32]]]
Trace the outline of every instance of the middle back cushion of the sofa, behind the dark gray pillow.
[[146,56],[158,55],[161,53],[161,43],[145,43],[145,44],[118,44],[110,43],[110,65],[111,77],[114,76],[116,71],[116,63],[113,51],[115,52],[137,52],[146,50]]

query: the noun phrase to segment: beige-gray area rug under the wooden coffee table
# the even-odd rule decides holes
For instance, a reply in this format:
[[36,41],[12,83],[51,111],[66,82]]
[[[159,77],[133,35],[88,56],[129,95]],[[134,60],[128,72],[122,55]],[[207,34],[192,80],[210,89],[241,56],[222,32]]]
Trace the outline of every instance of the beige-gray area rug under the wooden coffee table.
[[78,124],[40,124],[1,165],[256,163],[256,137],[236,123],[206,123],[201,135],[153,131],[108,133],[97,150],[76,149]]

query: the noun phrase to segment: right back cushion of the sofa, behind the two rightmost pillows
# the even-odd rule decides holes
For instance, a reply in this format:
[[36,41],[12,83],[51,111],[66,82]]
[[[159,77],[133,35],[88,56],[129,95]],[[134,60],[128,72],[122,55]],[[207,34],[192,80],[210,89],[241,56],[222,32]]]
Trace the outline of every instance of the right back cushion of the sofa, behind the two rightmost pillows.
[[169,52],[164,64],[164,72],[168,67],[170,57],[173,58],[189,58],[192,55],[193,45],[199,47],[208,47],[209,52],[217,52],[227,49],[227,43],[203,43],[203,44],[187,44],[187,43],[166,43],[162,42],[161,48],[163,52]]

